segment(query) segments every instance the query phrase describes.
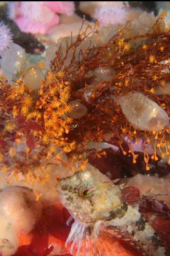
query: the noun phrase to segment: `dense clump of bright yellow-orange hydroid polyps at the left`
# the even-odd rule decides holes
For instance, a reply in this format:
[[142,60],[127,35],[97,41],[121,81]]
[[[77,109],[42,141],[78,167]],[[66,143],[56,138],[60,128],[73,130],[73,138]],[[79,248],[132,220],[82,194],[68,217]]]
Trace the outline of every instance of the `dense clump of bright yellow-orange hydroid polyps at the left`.
[[[29,182],[37,180],[37,176],[42,176],[40,180],[46,176],[48,180],[50,166],[64,161],[63,152],[74,149],[74,142],[69,143],[63,137],[72,123],[72,118],[65,116],[71,109],[67,104],[69,86],[61,80],[61,74],[55,80],[54,77],[49,72],[36,95],[32,95],[21,79],[13,86],[1,81],[2,172],[11,170],[16,178],[22,172],[28,175]],[[38,100],[34,101],[35,97]]]

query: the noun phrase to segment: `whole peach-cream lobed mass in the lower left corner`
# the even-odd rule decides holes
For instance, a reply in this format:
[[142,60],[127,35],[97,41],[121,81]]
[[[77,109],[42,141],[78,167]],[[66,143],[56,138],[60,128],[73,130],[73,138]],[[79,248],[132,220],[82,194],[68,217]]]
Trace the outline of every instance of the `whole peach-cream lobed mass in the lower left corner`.
[[18,249],[18,235],[30,232],[40,217],[41,204],[30,188],[8,186],[0,190],[0,249],[3,256]]

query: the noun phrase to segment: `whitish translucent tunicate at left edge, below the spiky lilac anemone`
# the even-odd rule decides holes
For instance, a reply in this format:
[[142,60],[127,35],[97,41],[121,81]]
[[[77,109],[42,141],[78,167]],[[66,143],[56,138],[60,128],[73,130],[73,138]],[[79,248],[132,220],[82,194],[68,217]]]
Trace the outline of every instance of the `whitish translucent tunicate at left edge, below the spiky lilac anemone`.
[[9,47],[1,54],[1,57],[3,75],[9,81],[24,72],[26,68],[26,52],[20,45],[10,43]]

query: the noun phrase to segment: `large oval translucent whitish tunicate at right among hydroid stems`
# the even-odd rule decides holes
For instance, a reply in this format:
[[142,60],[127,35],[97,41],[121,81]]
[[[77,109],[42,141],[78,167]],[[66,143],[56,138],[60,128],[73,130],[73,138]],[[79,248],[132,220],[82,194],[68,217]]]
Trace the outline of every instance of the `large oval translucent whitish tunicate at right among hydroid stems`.
[[142,93],[127,93],[119,99],[125,118],[140,130],[159,131],[169,126],[166,111]]

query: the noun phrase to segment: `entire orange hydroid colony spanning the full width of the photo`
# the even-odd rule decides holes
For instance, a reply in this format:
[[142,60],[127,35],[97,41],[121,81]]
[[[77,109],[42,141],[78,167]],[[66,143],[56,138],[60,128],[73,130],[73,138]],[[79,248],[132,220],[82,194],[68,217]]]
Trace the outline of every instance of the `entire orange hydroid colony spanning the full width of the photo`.
[[[107,43],[100,42],[97,24],[92,28],[83,22],[64,55],[59,47],[37,91],[30,91],[22,77],[11,86],[1,79],[2,171],[44,182],[51,166],[65,162],[65,154],[71,170],[77,160],[84,170],[94,150],[88,143],[108,142],[108,136],[124,155],[132,154],[134,163],[138,154],[132,144],[142,139],[146,170],[150,159],[158,160],[157,154],[170,163],[170,98],[166,92],[156,93],[170,80],[170,29],[163,16],[146,34],[130,36],[128,23]],[[103,72],[109,79],[103,76],[98,82],[96,76]],[[75,99],[86,106],[82,118],[71,115],[74,106],[69,102]],[[124,149],[127,142],[129,151]]]

